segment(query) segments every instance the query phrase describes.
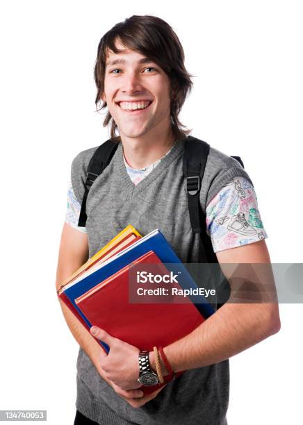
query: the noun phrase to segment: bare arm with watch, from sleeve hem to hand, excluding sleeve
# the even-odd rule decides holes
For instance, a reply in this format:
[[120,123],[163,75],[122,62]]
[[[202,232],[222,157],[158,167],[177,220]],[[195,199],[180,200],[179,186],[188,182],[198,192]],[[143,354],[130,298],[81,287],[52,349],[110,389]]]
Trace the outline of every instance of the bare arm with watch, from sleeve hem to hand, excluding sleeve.
[[[229,278],[232,291],[236,285],[232,273],[229,272],[230,264],[263,263],[266,265],[265,270],[271,269],[270,256],[264,240],[218,251],[216,255],[222,272]],[[248,270],[250,278],[250,268],[244,267],[244,272],[245,270]],[[244,274],[241,276],[245,277]],[[269,273],[261,276],[260,281],[261,286],[266,284],[275,287],[273,277]],[[262,292],[262,288],[259,289]],[[277,333],[279,328],[279,308],[275,302],[226,303],[193,332],[168,345],[164,351],[174,372],[195,369],[226,360]],[[138,377],[138,348],[113,338],[104,329],[99,329],[96,335],[110,344],[110,347],[117,348],[113,350],[112,356],[102,361],[101,367],[106,375],[121,387],[132,387]],[[125,359],[128,360],[127,365]],[[155,370],[153,351],[149,352],[149,360],[151,368]],[[167,375],[168,371],[163,362],[161,368],[163,374]]]

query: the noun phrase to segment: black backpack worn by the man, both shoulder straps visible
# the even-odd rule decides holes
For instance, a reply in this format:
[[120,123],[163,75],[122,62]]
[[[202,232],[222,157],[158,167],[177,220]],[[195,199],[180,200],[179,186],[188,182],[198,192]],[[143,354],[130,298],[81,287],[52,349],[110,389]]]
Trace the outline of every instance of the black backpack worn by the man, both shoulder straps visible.
[[[104,172],[104,169],[106,169],[110,160],[113,158],[117,147],[118,143],[114,140],[106,140],[106,142],[96,149],[92,158],[90,158],[78,226],[85,226],[86,224],[86,199],[92,183],[94,183],[95,179]],[[199,257],[199,263],[218,264],[218,258],[213,251],[211,238],[206,233],[206,226],[201,226],[202,223],[206,222],[206,216],[199,202],[199,192],[209,148],[210,145],[203,140],[199,140],[193,136],[186,137],[183,152],[183,176],[186,178],[190,224],[193,233],[199,233],[201,239],[202,250]],[[231,156],[231,158],[238,160],[240,165],[244,168],[243,162],[239,156]],[[215,281],[216,293],[220,300],[220,303],[217,304],[217,308],[220,308],[229,299],[231,291],[229,282],[222,274],[220,267],[214,267],[211,273]]]

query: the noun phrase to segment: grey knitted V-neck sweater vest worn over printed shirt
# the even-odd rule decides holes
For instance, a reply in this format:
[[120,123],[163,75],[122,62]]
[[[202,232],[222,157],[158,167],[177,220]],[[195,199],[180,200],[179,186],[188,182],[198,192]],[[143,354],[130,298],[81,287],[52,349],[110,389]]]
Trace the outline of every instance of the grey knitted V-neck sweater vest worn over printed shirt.
[[[132,224],[142,235],[159,228],[183,263],[198,263],[200,240],[191,231],[182,172],[185,142],[177,140],[137,185],[126,171],[119,143],[110,164],[88,194],[86,230],[90,257]],[[72,188],[80,203],[88,163],[96,149],[86,149],[72,161]],[[209,201],[235,176],[243,176],[252,183],[237,160],[211,147],[200,191],[204,213]],[[79,350],[76,408],[99,424],[222,425],[226,423],[228,403],[228,360],[184,372],[154,399],[133,408],[101,378],[85,352]]]

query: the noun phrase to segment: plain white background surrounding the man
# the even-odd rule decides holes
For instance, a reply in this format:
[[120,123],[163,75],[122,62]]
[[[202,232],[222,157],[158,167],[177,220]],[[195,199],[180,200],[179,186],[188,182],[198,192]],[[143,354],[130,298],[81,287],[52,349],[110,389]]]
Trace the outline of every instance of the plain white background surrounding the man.
[[[177,32],[194,74],[181,122],[243,158],[272,263],[302,263],[300,1],[1,3],[0,409],[73,424],[78,347],[55,276],[72,159],[108,138],[95,112],[99,39],[131,15]],[[231,358],[229,425],[302,424],[302,306]]]

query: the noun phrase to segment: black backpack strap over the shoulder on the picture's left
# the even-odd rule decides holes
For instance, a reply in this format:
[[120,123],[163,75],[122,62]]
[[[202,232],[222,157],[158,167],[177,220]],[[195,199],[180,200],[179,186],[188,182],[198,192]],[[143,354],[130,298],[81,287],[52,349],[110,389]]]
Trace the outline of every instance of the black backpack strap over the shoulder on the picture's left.
[[108,139],[96,149],[92,158],[90,158],[78,226],[84,227],[86,224],[86,219],[88,218],[86,215],[86,199],[88,198],[88,192],[90,191],[92,183],[94,183],[96,178],[104,172],[104,169],[106,169],[110,163],[110,160],[117,150],[118,144],[118,142]]

